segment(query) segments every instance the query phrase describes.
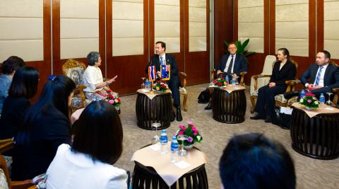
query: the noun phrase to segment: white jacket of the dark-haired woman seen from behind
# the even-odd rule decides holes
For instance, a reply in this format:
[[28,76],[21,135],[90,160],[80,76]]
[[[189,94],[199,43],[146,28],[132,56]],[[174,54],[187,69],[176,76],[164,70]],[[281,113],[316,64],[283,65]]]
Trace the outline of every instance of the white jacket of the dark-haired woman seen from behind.
[[59,146],[46,178],[47,189],[127,188],[125,170],[71,151],[69,144]]

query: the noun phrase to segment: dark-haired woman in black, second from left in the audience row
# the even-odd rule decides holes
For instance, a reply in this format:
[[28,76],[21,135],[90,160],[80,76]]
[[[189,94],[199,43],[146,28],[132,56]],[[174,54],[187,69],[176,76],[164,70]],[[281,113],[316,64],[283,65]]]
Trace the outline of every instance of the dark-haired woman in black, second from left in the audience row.
[[13,76],[8,97],[0,118],[0,139],[15,137],[23,123],[23,115],[30,107],[30,98],[37,93],[39,71],[34,67],[21,67]]

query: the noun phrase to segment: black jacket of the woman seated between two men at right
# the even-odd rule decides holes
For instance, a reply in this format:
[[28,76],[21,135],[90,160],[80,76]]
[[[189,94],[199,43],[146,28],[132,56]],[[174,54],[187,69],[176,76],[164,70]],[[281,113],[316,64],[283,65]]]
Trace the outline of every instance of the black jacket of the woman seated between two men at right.
[[285,81],[295,79],[295,74],[297,74],[297,69],[295,64],[288,61],[280,69],[280,61],[277,61],[273,65],[272,75],[270,76],[270,82],[274,82],[275,85],[281,86],[286,85]]

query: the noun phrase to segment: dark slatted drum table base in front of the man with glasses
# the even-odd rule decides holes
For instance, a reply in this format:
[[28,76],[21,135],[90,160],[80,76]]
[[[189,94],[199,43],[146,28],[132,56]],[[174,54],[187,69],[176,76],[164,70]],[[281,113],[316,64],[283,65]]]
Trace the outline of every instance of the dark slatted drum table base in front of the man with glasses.
[[228,93],[222,88],[213,88],[213,119],[218,122],[244,122],[246,112],[245,89]]

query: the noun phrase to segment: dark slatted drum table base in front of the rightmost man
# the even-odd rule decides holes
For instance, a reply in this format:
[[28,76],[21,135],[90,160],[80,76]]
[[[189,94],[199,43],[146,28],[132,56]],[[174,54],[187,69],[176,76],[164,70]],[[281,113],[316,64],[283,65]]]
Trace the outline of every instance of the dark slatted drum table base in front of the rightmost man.
[[292,149],[314,159],[338,158],[339,113],[321,113],[309,118],[304,110],[292,108]]

